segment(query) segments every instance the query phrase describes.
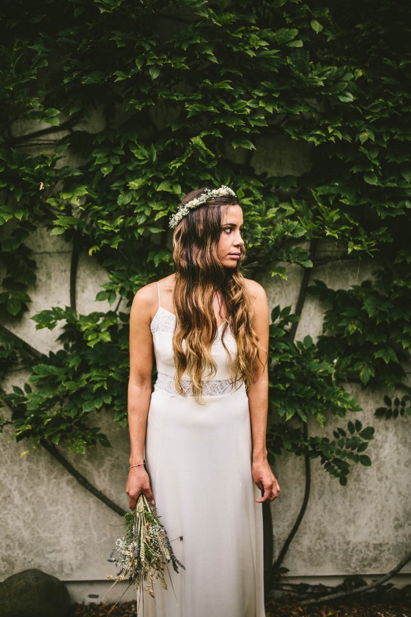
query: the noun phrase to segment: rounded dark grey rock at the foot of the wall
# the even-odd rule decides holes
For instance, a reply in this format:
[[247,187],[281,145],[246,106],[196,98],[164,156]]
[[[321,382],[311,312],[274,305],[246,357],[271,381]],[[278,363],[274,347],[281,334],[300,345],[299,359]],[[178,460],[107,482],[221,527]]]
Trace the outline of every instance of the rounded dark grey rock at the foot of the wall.
[[24,570],[0,585],[1,617],[66,617],[69,592],[64,583],[41,570]]

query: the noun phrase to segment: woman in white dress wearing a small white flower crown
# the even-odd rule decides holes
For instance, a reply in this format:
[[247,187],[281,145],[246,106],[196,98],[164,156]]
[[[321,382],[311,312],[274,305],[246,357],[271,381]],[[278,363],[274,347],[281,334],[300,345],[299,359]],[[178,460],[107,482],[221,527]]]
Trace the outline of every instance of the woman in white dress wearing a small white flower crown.
[[260,504],[279,492],[265,445],[266,295],[239,271],[232,189],[188,193],[170,226],[175,274],[132,305],[126,490],[130,508],[140,492],[155,503],[186,570],[171,572],[174,593],[145,596],[144,616],[263,617]]

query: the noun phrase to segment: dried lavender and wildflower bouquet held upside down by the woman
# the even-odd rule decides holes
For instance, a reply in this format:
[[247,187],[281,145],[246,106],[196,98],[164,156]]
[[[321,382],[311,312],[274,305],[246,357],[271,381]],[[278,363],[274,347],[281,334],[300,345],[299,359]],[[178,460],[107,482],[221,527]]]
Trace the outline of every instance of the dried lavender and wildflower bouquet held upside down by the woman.
[[[158,520],[157,511],[144,494],[140,494],[136,507],[125,513],[125,535],[116,540],[110,559],[120,568],[113,585],[128,581],[134,590],[143,588],[154,597],[154,582],[159,580],[164,589],[164,568],[171,562],[175,572],[186,569],[174,555],[169,536]],[[181,538],[182,539],[182,538]],[[108,579],[113,579],[112,575]]]

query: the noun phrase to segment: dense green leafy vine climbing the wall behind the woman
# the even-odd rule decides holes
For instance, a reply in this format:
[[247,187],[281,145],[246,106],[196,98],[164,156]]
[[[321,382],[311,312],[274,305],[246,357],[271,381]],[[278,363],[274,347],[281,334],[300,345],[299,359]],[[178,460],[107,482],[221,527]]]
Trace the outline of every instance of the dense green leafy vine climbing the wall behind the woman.
[[[379,431],[410,410],[406,3],[9,0],[1,13],[0,366],[30,372],[3,392],[3,424],[25,451],[109,446],[96,410],[125,426],[129,304],[171,271],[182,195],[228,184],[244,206],[247,275],[286,285],[301,269],[296,306],[272,314],[272,459],[318,458],[342,485],[353,463],[371,465],[374,428],[345,386],[384,389]],[[306,149],[306,171],[258,171],[275,140]],[[58,332],[49,354],[16,336],[40,227],[72,252],[69,306],[32,315]],[[97,300],[109,311],[77,311],[84,250],[107,273]],[[316,269],[333,260],[373,274],[329,289]],[[325,311],[315,343],[296,340],[307,293]]]

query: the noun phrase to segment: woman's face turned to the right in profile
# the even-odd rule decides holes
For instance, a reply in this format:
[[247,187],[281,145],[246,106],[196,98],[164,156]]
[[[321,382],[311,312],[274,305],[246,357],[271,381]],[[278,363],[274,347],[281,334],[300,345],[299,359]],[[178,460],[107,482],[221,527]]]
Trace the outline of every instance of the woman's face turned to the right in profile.
[[217,245],[217,257],[225,268],[235,268],[241,255],[244,241],[240,206],[228,206],[221,221],[221,236]]

